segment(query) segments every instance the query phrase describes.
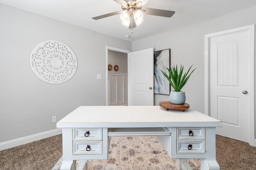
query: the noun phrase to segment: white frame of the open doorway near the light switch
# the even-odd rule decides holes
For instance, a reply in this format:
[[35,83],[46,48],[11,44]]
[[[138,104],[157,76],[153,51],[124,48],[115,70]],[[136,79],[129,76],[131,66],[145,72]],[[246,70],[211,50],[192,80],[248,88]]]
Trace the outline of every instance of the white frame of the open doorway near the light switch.
[[106,46],[106,106],[108,106],[108,50],[118,51],[118,52],[127,53],[127,54],[132,52],[125,49],[118,49],[115,47]]

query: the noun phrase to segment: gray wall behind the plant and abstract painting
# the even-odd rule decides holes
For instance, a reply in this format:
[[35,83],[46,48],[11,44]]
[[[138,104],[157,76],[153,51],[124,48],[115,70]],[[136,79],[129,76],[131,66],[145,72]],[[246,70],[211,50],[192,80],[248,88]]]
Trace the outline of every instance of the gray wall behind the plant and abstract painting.
[[[182,91],[186,92],[186,103],[190,104],[190,108],[204,113],[204,35],[255,23],[256,6],[252,6],[212,20],[133,41],[132,51],[150,47],[154,47],[154,51],[170,48],[172,66],[182,63],[187,70],[194,64],[196,70]],[[155,105],[160,101],[169,100],[167,95],[154,97]]]

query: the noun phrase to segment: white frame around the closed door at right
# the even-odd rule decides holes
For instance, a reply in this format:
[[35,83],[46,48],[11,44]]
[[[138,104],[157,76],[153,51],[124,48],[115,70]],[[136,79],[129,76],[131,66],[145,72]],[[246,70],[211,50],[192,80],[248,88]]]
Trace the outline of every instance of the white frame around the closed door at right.
[[252,25],[247,25],[244,27],[239,27],[239,28],[235,28],[235,29],[230,29],[230,30],[226,30],[226,31],[220,31],[217,33],[211,33],[211,34],[207,34],[204,36],[204,113],[206,115],[210,115],[210,39],[214,38],[214,37],[219,37],[219,36],[223,36],[223,35],[229,35],[229,34],[233,34],[233,33],[238,33],[238,32],[243,32],[243,31],[249,31],[249,37],[250,37],[250,42],[249,42],[249,61],[250,61],[250,65],[249,65],[249,92],[252,93],[252,95],[250,95],[250,108],[249,108],[249,114],[250,114],[250,127],[249,127],[249,134],[250,134],[250,142],[249,144],[251,146],[256,146],[256,140],[255,140],[255,125],[254,125],[254,38],[255,38],[255,24]]

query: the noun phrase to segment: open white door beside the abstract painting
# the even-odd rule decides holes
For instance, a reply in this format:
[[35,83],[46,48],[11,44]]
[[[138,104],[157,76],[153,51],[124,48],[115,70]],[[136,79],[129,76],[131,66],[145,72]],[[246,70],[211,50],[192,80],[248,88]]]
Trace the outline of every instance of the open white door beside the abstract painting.
[[128,105],[154,105],[154,49],[128,53]]

